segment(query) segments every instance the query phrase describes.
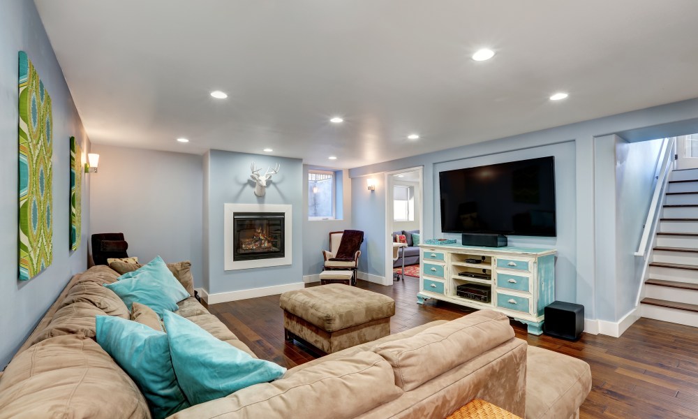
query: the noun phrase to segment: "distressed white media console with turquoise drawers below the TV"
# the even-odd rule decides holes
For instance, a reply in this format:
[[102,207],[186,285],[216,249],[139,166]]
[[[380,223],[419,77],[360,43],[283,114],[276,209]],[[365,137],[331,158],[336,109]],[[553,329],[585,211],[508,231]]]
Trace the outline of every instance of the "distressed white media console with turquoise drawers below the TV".
[[[555,300],[555,250],[458,243],[420,247],[417,303],[434,298],[475,309],[494,309],[528,325],[529,333],[542,333],[545,306]],[[457,295],[457,287],[463,284],[489,287],[489,302]]]

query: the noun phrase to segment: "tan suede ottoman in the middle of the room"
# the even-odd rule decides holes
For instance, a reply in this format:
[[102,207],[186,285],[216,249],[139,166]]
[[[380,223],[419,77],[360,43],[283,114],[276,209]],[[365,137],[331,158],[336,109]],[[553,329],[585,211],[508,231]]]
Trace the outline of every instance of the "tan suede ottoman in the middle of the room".
[[392,298],[342,284],[288,291],[279,306],[286,339],[302,339],[325,353],[389,335],[395,314]]

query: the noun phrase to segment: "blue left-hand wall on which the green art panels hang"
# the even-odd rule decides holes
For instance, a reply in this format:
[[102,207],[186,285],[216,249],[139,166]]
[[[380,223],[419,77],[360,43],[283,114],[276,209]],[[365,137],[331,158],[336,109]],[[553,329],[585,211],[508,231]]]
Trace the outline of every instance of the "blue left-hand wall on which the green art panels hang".
[[[27,282],[17,281],[17,52],[23,50],[53,103],[53,263]],[[70,277],[87,267],[89,176],[83,177],[82,244],[69,251],[70,141],[89,140],[41,24],[34,1],[5,0],[0,12],[0,369],[22,346]]]

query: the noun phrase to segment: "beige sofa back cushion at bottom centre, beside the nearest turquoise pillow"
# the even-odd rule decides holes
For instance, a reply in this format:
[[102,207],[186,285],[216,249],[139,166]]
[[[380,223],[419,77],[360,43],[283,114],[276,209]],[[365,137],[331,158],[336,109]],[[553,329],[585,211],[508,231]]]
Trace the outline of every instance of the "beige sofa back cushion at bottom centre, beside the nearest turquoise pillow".
[[173,418],[354,418],[401,394],[390,365],[376,353],[362,352],[198,404]]

